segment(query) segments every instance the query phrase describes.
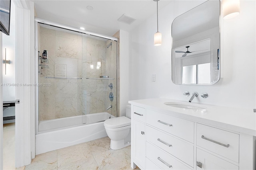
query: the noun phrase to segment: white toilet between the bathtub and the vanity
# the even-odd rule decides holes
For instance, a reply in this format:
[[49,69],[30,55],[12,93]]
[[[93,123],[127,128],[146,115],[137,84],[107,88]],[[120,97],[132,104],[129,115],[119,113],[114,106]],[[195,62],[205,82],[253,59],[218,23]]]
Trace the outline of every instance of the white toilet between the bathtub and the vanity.
[[131,105],[126,106],[126,116],[104,121],[104,127],[110,138],[110,148],[122,149],[131,145]]

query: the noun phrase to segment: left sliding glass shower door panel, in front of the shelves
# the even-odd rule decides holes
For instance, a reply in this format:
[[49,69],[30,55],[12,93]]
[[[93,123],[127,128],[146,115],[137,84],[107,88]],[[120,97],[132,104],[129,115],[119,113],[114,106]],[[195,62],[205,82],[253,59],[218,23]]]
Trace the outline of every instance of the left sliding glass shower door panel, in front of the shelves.
[[39,24],[38,49],[39,132],[82,124],[82,33]]

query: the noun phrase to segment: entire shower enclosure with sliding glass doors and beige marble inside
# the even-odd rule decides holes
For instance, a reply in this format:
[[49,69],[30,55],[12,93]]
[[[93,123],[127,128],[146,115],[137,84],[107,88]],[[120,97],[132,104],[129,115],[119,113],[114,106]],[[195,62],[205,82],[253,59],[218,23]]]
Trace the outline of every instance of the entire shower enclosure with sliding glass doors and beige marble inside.
[[36,27],[37,132],[116,117],[117,39],[40,21]]

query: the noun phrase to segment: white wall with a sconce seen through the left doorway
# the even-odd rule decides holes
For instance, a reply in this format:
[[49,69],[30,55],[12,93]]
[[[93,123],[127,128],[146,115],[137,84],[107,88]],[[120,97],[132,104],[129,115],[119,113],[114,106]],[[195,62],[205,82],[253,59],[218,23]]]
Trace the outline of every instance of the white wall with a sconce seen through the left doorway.
[[[11,18],[10,18],[10,35],[2,34],[3,41],[3,59],[5,58],[6,48],[6,60],[10,60],[10,64],[6,64],[3,69],[3,83],[15,83],[15,5],[11,1]],[[15,86],[3,86],[3,101],[15,100]]]

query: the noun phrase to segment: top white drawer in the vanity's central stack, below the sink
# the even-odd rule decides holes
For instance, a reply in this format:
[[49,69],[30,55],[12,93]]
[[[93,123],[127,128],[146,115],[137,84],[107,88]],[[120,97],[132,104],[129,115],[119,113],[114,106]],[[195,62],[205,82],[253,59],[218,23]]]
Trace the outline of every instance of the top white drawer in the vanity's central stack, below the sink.
[[146,123],[194,143],[194,122],[147,109]]

